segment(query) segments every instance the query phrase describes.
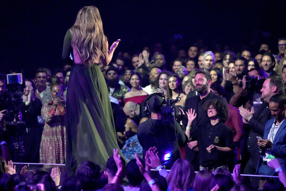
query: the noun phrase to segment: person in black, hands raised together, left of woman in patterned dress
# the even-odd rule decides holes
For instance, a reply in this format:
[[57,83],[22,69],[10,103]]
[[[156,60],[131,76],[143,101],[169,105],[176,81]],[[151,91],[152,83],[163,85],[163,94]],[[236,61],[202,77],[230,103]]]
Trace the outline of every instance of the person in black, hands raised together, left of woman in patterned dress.
[[24,136],[24,161],[29,163],[40,162],[40,143],[43,131],[43,124],[38,124],[38,116],[41,115],[42,102],[35,98],[35,83],[30,79],[25,79],[25,93],[23,102],[20,104],[20,111],[23,114],[29,133]]

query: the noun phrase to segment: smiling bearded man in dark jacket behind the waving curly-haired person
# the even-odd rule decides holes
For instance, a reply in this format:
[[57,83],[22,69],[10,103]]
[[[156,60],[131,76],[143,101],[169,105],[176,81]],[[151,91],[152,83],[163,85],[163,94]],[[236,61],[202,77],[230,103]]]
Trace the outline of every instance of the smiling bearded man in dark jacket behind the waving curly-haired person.
[[[209,121],[206,112],[203,111],[203,104],[205,103],[205,101],[217,98],[218,100],[226,102],[226,98],[217,96],[211,91],[211,84],[212,84],[212,78],[208,72],[205,72],[203,70],[196,71],[194,85],[196,91],[200,93],[200,95],[187,98],[184,109],[185,113],[189,109],[193,109],[197,113],[197,117],[192,122],[192,129],[191,129],[192,134],[198,133],[197,131],[198,127],[200,125],[207,124]],[[184,127],[186,127],[187,123],[188,119],[184,119],[183,120]],[[197,145],[198,145],[197,141],[189,142],[188,147],[186,147],[186,153],[185,153],[185,158],[192,163],[196,171],[199,170]]]

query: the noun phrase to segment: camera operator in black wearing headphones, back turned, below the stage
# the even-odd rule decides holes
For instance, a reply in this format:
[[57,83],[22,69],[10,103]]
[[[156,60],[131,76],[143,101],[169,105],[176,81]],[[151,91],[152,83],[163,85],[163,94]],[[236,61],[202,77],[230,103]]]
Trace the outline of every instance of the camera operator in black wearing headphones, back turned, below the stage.
[[[175,124],[163,122],[161,107],[164,98],[162,93],[153,93],[145,98],[143,103],[146,104],[146,110],[151,116],[147,121],[139,124],[137,135],[139,143],[143,147],[143,156],[150,147],[155,146],[158,148],[161,163],[170,169],[172,164],[181,158],[179,147],[186,146],[188,138],[177,121]],[[182,116],[178,117],[178,121],[180,117]]]

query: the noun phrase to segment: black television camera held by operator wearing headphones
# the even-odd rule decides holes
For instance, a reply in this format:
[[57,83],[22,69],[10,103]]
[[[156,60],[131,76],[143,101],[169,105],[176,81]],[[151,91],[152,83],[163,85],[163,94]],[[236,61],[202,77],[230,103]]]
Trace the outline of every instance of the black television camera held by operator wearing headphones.
[[178,120],[180,116],[179,106],[176,106],[175,103],[180,102],[181,97],[174,99],[167,99],[166,105],[163,105],[161,108],[161,114],[164,124],[173,124],[174,118]]

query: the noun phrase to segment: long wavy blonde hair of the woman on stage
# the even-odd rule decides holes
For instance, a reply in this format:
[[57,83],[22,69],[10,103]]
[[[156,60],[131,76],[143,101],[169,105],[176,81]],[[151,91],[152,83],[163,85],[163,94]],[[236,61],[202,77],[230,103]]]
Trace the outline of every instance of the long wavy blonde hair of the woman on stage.
[[102,20],[94,6],[83,7],[70,28],[71,45],[79,53],[86,65],[92,65],[102,56],[105,57],[107,37],[103,33]]

